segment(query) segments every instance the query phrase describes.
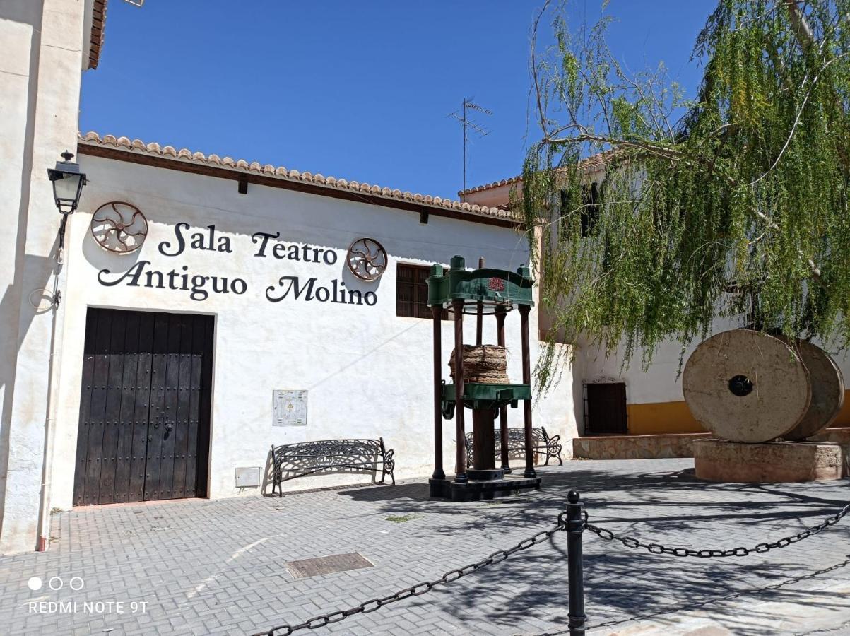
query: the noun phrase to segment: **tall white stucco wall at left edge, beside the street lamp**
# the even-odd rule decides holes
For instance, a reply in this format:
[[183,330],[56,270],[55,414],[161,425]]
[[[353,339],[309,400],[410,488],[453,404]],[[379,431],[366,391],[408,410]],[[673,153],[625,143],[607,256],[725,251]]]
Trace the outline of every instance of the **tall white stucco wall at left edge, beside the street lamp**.
[[77,143],[89,5],[0,3],[0,554],[32,550],[43,538],[43,459],[60,357],[52,344],[63,311],[43,303],[57,281],[59,229],[47,168]]

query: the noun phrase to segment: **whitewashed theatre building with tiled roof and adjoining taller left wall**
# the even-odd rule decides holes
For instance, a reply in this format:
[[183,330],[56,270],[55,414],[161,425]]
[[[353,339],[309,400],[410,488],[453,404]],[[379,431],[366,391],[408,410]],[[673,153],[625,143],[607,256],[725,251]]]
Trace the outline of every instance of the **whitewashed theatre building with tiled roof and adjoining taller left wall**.
[[[267,471],[272,444],[382,437],[396,476],[425,480],[432,343],[421,268],[460,254],[516,270],[528,245],[515,219],[501,207],[79,137],[80,71],[97,65],[104,12],[105,0],[0,5],[0,554],[44,549],[54,508],[257,496],[270,485],[237,487],[235,470]],[[47,168],[66,149],[88,185],[59,250]],[[106,218],[140,246],[107,249],[125,246]],[[348,268],[363,238],[387,254],[377,281]],[[508,372],[519,382],[511,321]],[[532,363],[538,349],[535,329]],[[275,411],[275,391],[299,392],[306,412],[293,422]],[[571,383],[536,401],[534,417],[574,437]],[[446,421],[445,457],[454,438]]]

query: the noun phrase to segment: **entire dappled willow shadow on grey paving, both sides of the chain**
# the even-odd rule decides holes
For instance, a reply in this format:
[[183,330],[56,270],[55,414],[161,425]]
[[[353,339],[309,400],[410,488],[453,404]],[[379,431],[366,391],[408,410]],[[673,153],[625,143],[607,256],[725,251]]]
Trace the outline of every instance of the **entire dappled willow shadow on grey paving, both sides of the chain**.
[[[731,548],[775,541],[816,525],[846,505],[846,488],[825,484],[744,485],[697,480],[693,469],[643,473],[612,472],[587,463],[539,471],[541,491],[482,503],[445,503],[428,497],[428,485],[405,483],[387,488],[360,488],[340,493],[377,504],[381,512],[439,515],[420,531],[454,535],[479,531],[527,530],[522,536],[553,525],[564,510],[567,493],[581,491],[592,523],[611,525],[618,533],[669,547]],[[434,527],[436,526],[436,527]],[[836,559],[844,552],[850,528],[833,527],[830,545]],[[701,535],[700,535],[701,532]],[[734,538],[744,533],[750,540]],[[757,534],[756,534],[757,533]],[[706,543],[711,537],[711,544]],[[716,541],[714,537],[717,537]],[[515,542],[515,539],[513,539]],[[512,541],[494,544],[507,548]],[[764,633],[772,616],[741,611],[733,601],[758,595],[771,601],[811,606],[812,610],[847,609],[839,593],[813,595],[790,588],[791,583],[844,568],[850,559],[820,571],[808,571],[806,554],[797,563],[774,554],[749,559],[677,559],[669,555],[629,550],[620,542],[603,542],[585,534],[585,586],[592,625],[614,626],[636,616],[662,616],[690,609],[709,609],[712,618],[733,633]],[[698,543],[698,545],[694,545]],[[795,550],[795,548],[791,548]],[[458,558],[457,565],[479,558]],[[774,560],[771,560],[774,559]],[[823,563],[823,559],[820,563]],[[518,624],[567,621],[566,537],[558,533],[546,542],[485,568],[462,583],[435,588],[440,607],[464,620],[485,620],[509,629]],[[428,595],[433,599],[431,594]],[[428,605],[427,600],[416,601]],[[482,602],[484,601],[484,602]],[[542,626],[541,626],[542,627]],[[557,632],[565,633],[565,632]]]

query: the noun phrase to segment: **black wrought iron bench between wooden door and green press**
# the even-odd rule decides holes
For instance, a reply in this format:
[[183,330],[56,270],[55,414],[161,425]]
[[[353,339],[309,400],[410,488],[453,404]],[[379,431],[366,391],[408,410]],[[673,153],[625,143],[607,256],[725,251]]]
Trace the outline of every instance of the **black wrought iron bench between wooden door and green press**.
[[395,451],[377,440],[315,440],[298,444],[271,446],[274,479],[271,494],[279,490],[283,497],[282,482],[317,473],[377,473],[381,482],[389,475],[395,486]]

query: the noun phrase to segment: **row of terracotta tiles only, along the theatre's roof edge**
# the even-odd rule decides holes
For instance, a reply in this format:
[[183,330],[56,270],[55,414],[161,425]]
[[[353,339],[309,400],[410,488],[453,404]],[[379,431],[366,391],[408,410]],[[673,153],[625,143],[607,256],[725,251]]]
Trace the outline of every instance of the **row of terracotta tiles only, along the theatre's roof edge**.
[[401,190],[392,190],[380,185],[369,185],[367,183],[361,183],[354,180],[326,177],[319,173],[313,174],[306,171],[298,172],[297,170],[287,170],[283,166],[277,168],[269,164],[261,166],[258,162],[249,163],[244,159],[234,161],[229,156],[221,158],[214,154],[204,155],[202,152],[192,152],[186,148],[175,150],[174,147],[170,145],[160,146],[156,143],[145,144],[140,139],[116,137],[111,134],[106,134],[101,137],[98,133],[94,132],[85,134],[81,133],[79,139],[82,145],[111,147],[146,156],[167,157],[173,159],[175,162],[190,162],[207,166],[229,168],[237,172],[258,173],[274,177],[275,179],[305,181],[325,188],[332,188],[334,190],[359,190],[360,192],[369,193],[371,196],[381,196],[383,198],[397,199],[399,201],[419,202],[430,207],[445,207],[469,213],[470,215],[494,217],[496,219],[507,219],[519,222],[519,215],[510,212],[505,207],[471,205],[466,202],[443,199],[439,196],[422,195],[408,191],[402,192]]

